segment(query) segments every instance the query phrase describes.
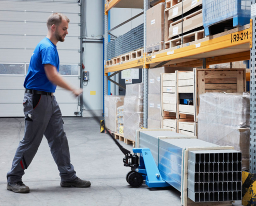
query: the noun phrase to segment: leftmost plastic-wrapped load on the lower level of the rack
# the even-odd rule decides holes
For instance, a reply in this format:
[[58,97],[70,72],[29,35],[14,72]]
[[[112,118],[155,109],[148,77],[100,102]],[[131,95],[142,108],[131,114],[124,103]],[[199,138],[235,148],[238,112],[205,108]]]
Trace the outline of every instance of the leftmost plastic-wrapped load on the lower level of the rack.
[[105,125],[112,132],[116,132],[117,108],[124,105],[124,96],[105,96]]

